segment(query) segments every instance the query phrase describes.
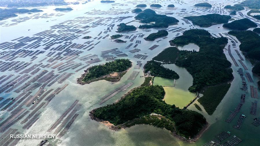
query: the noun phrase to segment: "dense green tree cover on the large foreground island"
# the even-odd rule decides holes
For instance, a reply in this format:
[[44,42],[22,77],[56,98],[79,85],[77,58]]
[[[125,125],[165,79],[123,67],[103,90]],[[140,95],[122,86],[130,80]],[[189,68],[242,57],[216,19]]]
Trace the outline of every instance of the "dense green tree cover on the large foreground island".
[[[206,119],[203,115],[195,111],[180,109],[175,107],[175,105],[166,104],[162,100],[164,95],[165,91],[163,87],[158,85],[136,88],[119,102],[97,108],[93,116],[98,119],[107,120],[115,125],[123,123],[128,125],[130,123],[131,126],[133,125],[133,120],[136,124],[147,123],[147,120],[149,120],[151,121],[149,122],[151,125],[169,125],[164,124],[166,121],[150,119],[149,115],[155,113],[169,119],[170,121],[167,123],[171,123],[171,121],[174,122],[178,134],[187,138],[189,136],[195,136],[206,124]],[[147,115],[149,117],[147,117]]]

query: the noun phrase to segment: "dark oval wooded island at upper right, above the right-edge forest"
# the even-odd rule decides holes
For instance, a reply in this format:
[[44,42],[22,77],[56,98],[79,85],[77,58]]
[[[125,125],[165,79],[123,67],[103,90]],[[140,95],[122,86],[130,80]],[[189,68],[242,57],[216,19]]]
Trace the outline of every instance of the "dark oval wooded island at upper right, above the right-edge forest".
[[223,24],[223,27],[233,29],[233,30],[246,30],[251,27],[257,27],[253,21],[249,20],[248,18],[243,18],[239,20],[234,20],[231,23]]

